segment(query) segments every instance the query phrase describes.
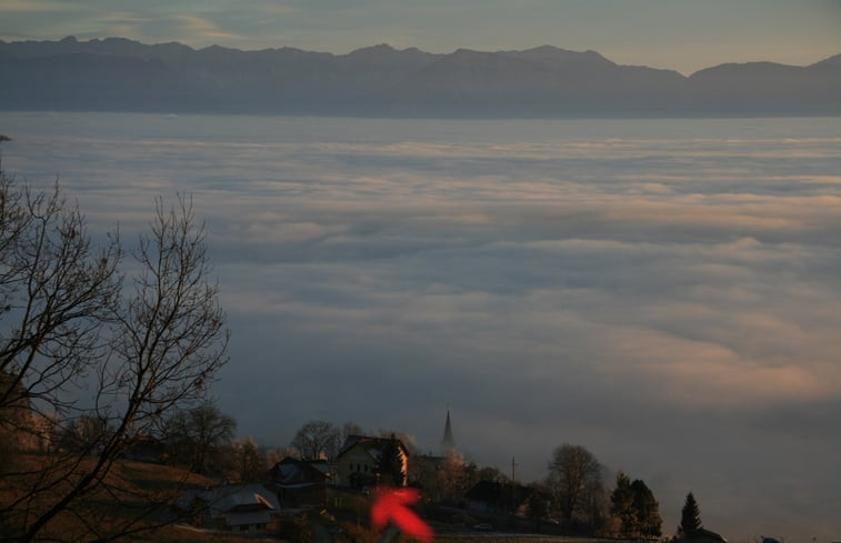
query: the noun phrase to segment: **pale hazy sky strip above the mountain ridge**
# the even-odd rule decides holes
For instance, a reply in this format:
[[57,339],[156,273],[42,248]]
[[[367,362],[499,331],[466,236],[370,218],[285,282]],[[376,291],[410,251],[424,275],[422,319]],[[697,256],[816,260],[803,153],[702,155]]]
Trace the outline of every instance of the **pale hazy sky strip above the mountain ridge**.
[[841,1],[0,0],[0,39],[66,36],[336,53],[382,42],[431,52],[552,44],[689,74],[838,54]]

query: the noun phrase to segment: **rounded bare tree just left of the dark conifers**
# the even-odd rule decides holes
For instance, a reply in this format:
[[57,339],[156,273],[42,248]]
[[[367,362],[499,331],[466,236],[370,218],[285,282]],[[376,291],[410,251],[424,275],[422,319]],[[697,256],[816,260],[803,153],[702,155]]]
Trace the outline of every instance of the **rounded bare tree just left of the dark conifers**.
[[547,484],[568,525],[577,513],[592,521],[595,502],[603,493],[601,471],[599,461],[583,446],[564,444],[552,453]]

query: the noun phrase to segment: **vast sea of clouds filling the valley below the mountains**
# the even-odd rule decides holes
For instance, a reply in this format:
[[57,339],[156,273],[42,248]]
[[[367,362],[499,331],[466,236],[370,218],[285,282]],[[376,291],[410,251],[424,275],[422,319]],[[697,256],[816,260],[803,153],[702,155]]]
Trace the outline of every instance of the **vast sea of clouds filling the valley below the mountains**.
[[[731,541],[841,533],[837,119],[409,121],[0,113],[130,245],[192,194],[232,331],[217,395],[545,475],[588,448]],[[611,475],[612,476],[612,475]]]

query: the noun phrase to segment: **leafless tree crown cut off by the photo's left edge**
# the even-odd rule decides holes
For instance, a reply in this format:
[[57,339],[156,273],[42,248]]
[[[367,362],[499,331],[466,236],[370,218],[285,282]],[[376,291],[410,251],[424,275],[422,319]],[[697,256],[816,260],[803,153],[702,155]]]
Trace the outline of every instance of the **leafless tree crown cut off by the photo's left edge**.
[[30,409],[73,412],[66,392],[107,361],[103,332],[119,311],[121,257],[116,237],[92,247],[58,187],[18,189],[0,169],[0,410],[8,431],[26,433]]

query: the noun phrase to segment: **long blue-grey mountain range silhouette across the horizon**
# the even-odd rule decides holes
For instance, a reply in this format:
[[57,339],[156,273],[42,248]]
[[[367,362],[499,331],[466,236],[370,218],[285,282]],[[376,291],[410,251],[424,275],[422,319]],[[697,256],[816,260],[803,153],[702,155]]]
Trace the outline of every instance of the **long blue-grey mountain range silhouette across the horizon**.
[[808,67],[721,64],[684,77],[595,51],[387,44],[348,54],[294,48],[148,46],[122,38],[0,41],[0,109],[374,117],[841,114],[841,54]]

